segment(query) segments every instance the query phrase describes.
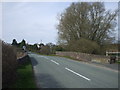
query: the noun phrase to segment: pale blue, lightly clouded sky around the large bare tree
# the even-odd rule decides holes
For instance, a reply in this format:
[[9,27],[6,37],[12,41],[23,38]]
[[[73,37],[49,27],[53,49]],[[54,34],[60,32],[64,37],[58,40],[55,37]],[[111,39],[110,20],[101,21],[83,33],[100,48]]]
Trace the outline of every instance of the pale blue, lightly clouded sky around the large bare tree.
[[[4,2],[2,3],[2,40],[11,43],[25,39],[27,43],[57,43],[57,16],[71,2]],[[106,9],[118,8],[117,3],[105,3]],[[118,33],[118,32],[116,32]],[[117,35],[117,34],[116,34]]]

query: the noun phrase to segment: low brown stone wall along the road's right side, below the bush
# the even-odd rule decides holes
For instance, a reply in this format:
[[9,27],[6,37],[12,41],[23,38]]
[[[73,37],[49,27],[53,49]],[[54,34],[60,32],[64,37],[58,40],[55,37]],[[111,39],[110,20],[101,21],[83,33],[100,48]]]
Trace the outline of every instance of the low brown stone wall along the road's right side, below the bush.
[[56,55],[59,56],[69,56],[77,60],[82,61],[94,61],[94,62],[102,62],[108,63],[109,56],[104,55],[93,55],[93,54],[86,54],[86,53],[79,53],[79,52],[60,52],[57,51]]

